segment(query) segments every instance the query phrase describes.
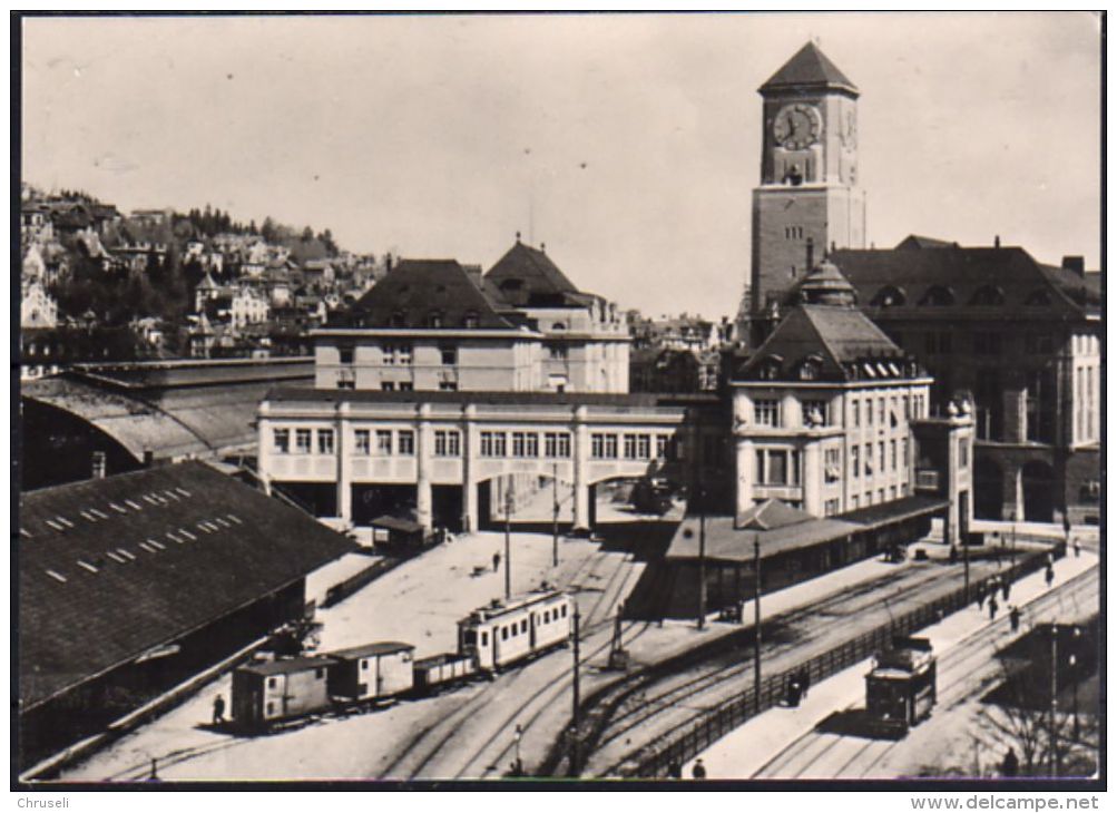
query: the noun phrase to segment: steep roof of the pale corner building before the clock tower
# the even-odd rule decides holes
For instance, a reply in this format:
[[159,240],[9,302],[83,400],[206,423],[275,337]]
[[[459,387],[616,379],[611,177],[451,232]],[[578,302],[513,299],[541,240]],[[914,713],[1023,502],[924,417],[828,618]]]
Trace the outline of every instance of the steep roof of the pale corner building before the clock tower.
[[[904,351],[857,308],[799,305],[745,363],[737,379],[760,377],[761,369],[779,365],[779,381],[798,379],[800,365],[813,358],[817,377],[848,381],[847,365],[866,358],[905,361]],[[900,373],[904,371],[900,370]],[[896,377],[895,374],[880,377]]]

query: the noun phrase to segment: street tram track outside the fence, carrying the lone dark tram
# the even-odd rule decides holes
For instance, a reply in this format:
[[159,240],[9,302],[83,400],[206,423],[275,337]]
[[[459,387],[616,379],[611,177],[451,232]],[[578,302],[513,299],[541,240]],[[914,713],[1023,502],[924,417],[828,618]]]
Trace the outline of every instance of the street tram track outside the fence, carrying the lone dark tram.
[[[1031,618],[1040,616],[1051,610],[1065,610],[1068,601],[1072,602],[1077,613],[1081,614],[1099,606],[1100,580],[1097,566],[1078,574],[1059,587],[1037,596],[1020,606]],[[973,694],[972,678],[981,667],[989,662],[990,656],[1008,640],[1012,633],[1008,615],[1002,615],[992,624],[975,630],[938,658],[939,681],[937,707],[948,709],[967,700]],[[982,682],[981,689],[986,688]],[[860,704],[849,705],[849,711]],[[915,729],[918,731],[919,729]],[[753,773],[752,778],[867,778],[869,774],[905,740],[865,739],[850,734],[809,731],[789,743],[768,762]],[[851,747],[852,754],[846,756],[843,747]],[[827,757],[841,754],[846,757],[834,768],[829,768]]]

